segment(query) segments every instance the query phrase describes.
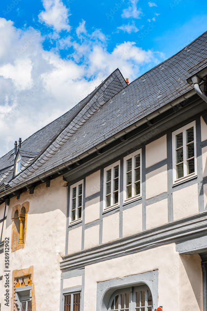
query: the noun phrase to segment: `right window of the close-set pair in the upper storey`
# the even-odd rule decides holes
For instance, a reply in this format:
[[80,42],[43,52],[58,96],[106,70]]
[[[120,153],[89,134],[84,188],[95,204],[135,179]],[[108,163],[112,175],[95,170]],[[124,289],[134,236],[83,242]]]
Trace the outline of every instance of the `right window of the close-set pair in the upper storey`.
[[124,201],[141,197],[141,149],[124,157]]

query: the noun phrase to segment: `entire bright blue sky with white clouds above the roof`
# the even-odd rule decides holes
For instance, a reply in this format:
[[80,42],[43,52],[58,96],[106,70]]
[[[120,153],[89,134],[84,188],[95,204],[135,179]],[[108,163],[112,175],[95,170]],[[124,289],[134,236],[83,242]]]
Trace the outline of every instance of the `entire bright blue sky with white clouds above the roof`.
[[206,26],[200,0],[2,0],[0,156],[117,67],[131,82]]

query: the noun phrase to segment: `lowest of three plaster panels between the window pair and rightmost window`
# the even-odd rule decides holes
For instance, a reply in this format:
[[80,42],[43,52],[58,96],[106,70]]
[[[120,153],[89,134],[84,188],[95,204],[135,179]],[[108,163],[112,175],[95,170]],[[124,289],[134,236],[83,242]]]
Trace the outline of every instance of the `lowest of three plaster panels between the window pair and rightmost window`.
[[168,223],[168,199],[146,206],[146,229]]

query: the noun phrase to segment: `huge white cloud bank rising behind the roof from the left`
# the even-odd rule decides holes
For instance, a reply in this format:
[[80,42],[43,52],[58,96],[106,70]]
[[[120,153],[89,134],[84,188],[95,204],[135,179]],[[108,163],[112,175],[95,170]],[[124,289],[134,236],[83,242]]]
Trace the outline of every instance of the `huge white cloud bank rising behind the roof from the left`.
[[117,44],[109,53],[108,38],[94,30],[86,31],[82,43],[57,37],[58,48],[74,49],[62,60],[58,48],[44,50],[44,39],[31,27],[20,30],[0,18],[0,155],[71,109],[117,67],[132,81],[145,64],[154,66],[162,58],[134,42]]

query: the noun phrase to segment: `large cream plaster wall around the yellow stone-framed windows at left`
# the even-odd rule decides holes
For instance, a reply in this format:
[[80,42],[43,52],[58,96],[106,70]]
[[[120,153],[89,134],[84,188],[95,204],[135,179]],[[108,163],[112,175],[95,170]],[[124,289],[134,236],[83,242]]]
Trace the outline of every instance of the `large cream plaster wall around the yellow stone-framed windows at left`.
[[[36,310],[59,310],[59,265],[65,255],[67,183],[59,176],[51,180],[49,188],[43,183],[35,187],[34,194],[25,191],[19,200],[12,198],[6,225],[6,236],[10,239],[12,207],[26,201],[30,202],[30,208],[25,247],[10,254],[10,285],[12,286],[13,270],[34,266]],[[2,305],[2,310],[7,309]]]

